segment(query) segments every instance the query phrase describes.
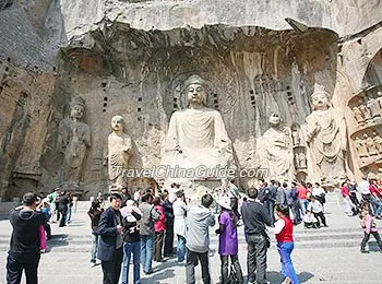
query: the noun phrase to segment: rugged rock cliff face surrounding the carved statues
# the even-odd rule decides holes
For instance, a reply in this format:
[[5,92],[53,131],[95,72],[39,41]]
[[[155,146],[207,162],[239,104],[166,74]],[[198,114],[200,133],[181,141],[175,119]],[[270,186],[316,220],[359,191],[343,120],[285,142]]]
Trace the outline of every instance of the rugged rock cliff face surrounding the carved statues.
[[369,87],[367,105],[380,90],[381,9],[377,0],[0,1],[0,194],[63,182],[58,131],[74,96],[86,102],[92,130],[84,198],[107,188],[105,140],[115,115],[133,140],[132,166],[158,165],[169,118],[186,106],[182,82],[193,73],[208,82],[207,104],[220,111],[240,167],[259,167],[256,141],[273,113],[303,128],[320,83],[345,111],[348,175],[377,173],[380,154],[361,158],[355,140],[382,135],[380,122],[358,126],[353,108],[361,103],[353,102]]

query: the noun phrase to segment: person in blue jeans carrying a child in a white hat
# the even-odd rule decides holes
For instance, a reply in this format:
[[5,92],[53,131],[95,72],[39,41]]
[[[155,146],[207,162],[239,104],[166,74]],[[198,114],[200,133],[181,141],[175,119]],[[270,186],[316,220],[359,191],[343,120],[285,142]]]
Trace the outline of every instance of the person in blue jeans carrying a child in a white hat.
[[123,217],[123,268],[122,284],[129,283],[129,267],[131,253],[133,255],[133,280],[134,284],[141,283],[140,262],[141,262],[141,236],[139,221],[142,212],[136,206],[134,200],[128,200],[126,206],[121,209]]

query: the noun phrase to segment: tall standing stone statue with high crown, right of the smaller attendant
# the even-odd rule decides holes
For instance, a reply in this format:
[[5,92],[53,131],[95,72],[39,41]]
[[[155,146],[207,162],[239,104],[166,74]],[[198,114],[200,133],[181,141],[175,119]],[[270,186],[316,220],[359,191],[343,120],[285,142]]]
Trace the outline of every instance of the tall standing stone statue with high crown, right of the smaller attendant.
[[[343,113],[331,106],[331,96],[322,85],[314,85],[313,111],[306,118],[307,142],[312,159],[308,165],[315,179],[338,185],[346,177],[346,123]],[[318,175],[317,175],[318,174]]]

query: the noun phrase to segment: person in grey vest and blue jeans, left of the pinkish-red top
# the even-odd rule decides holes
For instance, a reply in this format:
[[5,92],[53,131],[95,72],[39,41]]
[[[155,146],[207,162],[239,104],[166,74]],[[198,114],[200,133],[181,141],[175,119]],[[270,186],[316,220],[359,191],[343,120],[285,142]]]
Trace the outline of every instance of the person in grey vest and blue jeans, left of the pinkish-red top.
[[154,223],[159,218],[159,213],[154,210],[153,205],[153,196],[148,192],[142,196],[142,202],[140,203],[139,209],[142,212],[141,220],[141,263],[143,272],[145,274],[153,273],[153,253],[154,253]]

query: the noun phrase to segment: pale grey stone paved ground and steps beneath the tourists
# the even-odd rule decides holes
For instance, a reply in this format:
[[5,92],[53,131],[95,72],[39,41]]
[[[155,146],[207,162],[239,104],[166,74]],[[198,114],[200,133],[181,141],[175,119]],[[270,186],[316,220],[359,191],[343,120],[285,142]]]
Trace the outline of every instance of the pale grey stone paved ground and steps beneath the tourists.
[[[380,253],[374,246],[371,246],[371,253],[361,255],[359,247],[341,246],[327,248],[326,242],[322,242],[320,238],[327,237],[331,234],[341,234],[338,232],[346,232],[347,229],[355,232],[355,241],[358,242],[362,237],[362,233],[357,230],[358,218],[347,217],[342,212],[342,206],[338,206],[335,201],[335,196],[332,197],[332,203],[326,206],[326,217],[329,220],[330,228],[323,228],[313,232],[312,239],[309,240],[312,248],[299,248],[299,236],[302,228],[296,228],[296,249],[293,253],[293,260],[296,271],[299,275],[300,283],[307,284],[380,284],[382,283],[382,253]],[[382,223],[379,222],[379,226]],[[68,234],[69,238],[82,239],[83,242],[75,241],[62,242],[60,246],[52,247],[49,252],[43,255],[39,265],[40,284],[99,284],[102,283],[100,267],[89,267],[87,234],[88,220],[85,211],[79,211],[74,215],[74,220],[69,227],[58,228],[52,224],[53,234]],[[242,227],[240,227],[242,232]],[[0,268],[5,267],[7,251],[10,234],[10,225],[8,221],[0,221],[0,236],[2,249],[0,251]],[[241,236],[242,238],[242,236]],[[302,241],[300,241],[302,246]],[[309,242],[308,242],[309,244]],[[341,241],[338,242],[341,244]],[[335,245],[336,246],[336,245]],[[212,235],[211,248],[217,249],[217,238]],[[69,251],[73,250],[73,251]],[[240,263],[246,274],[246,255],[247,248],[243,241],[240,244],[239,258]],[[271,283],[280,283],[279,275],[279,260],[278,253],[274,247],[267,253],[268,268],[267,277]],[[211,271],[214,283],[218,283],[220,262],[217,253],[211,258]],[[157,264],[154,262],[155,273],[142,277],[142,283],[184,283],[184,267],[179,265],[175,259]],[[25,283],[25,280],[23,280]],[[0,270],[0,283],[5,283],[5,271]],[[130,282],[131,283],[131,282]],[[196,283],[201,283],[200,267],[196,268]]]

